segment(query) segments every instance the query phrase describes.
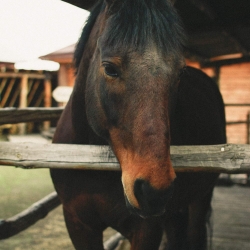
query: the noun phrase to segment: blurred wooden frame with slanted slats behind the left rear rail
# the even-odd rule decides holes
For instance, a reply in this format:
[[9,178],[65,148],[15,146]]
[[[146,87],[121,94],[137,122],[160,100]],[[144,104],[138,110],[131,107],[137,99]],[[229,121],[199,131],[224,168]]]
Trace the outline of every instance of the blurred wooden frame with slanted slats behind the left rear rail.
[[[48,74],[0,72],[0,108],[51,107],[51,92],[52,84]],[[43,124],[45,130],[49,127],[49,122]],[[26,132],[27,125],[19,123],[18,133]]]

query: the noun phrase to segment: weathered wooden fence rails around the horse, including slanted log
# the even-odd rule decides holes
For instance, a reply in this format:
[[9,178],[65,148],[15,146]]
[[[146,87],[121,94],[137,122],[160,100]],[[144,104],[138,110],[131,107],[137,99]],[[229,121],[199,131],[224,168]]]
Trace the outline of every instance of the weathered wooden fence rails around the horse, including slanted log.
[[[61,112],[61,108],[0,109],[0,124],[58,119]],[[171,146],[170,153],[176,172],[250,173],[250,145]],[[49,143],[34,146],[32,143],[1,142],[1,165],[25,169],[120,170],[108,146]],[[57,195],[53,193],[22,213],[0,221],[0,239],[26,229],[59,204]]]

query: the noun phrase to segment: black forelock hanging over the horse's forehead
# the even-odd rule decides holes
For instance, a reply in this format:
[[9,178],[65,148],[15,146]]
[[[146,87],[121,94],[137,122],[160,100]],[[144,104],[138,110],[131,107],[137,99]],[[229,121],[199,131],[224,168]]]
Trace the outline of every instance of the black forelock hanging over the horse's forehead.
[[182,22],[167,0],[124,0],[111,11],[105,45],[143,52],[155,44],[163,54],[180,55],[185,43]]

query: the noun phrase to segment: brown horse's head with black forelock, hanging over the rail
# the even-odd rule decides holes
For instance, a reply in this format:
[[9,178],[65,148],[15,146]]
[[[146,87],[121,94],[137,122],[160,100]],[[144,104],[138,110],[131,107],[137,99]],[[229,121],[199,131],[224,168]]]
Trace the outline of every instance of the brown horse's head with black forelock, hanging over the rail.
[[176,177],[169,119],[184,66],[183,30],[167,0],[106,0],[100,11],[88,41],[87,120],[121,165],[128,207],[161,215]]

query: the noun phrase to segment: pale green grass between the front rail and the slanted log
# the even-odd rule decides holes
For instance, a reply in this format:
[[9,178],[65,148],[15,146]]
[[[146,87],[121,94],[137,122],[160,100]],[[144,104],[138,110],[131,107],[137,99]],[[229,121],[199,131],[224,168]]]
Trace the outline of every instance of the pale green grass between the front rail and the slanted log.
[[21,212],[54,191],[47,169],[0,167],[0,218]]

